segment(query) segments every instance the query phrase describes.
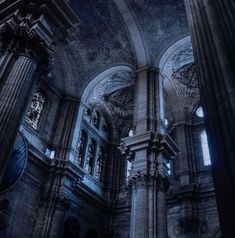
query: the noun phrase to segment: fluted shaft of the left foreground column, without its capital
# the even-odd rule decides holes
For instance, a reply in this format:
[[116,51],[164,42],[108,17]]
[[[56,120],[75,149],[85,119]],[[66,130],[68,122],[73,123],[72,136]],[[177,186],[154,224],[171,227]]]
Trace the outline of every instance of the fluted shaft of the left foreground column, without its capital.
[[0,176],[27,106],[35,67],[30,58],[20,56],[0,91]]

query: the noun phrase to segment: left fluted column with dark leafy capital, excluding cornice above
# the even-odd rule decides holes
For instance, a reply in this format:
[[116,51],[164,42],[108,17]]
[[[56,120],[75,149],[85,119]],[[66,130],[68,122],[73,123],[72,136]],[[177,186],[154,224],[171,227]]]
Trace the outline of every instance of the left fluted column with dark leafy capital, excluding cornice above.
[[1,182],[34,84],[34,72],[48,64],[49,55],[43,44],[23,29],[14,29],[6,24],[0,30],[0,34],[3,53],[1,61],[3,71],[0,73]]

